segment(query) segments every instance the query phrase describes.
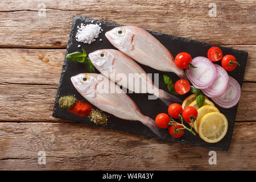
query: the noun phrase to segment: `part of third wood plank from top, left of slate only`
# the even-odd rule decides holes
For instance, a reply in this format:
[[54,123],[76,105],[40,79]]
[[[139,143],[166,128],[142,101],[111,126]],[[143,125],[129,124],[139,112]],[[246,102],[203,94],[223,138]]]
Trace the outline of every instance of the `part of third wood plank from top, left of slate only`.
[[0,121],[64,121],[52,117],[56,85],[0,85]]

